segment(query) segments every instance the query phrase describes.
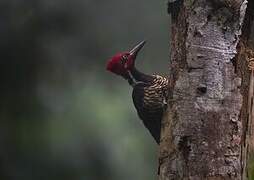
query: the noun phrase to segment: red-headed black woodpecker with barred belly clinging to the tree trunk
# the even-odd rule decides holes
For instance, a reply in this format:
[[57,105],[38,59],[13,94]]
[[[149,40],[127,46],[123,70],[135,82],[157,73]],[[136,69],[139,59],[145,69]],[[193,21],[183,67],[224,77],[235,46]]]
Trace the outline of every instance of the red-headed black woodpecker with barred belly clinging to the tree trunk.
[[168,80],[137,70],[136,57],[144,45],[145,41],[142,41],[132,50],[113,56],[107,62],[107,70],[122,76],[133,87],[132,99],[138,116],[159,144],[161,119],[167,106]]

